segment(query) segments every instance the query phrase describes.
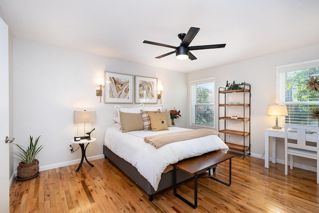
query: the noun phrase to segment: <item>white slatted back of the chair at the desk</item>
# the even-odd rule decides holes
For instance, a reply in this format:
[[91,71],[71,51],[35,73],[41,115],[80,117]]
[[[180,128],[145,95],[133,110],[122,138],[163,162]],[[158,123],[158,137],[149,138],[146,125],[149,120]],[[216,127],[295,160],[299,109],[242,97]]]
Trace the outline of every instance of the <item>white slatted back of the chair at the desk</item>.
[[[297,140],[297,143],[292,143],[288,139]],[[319,142],[319,127],[292,124],[285,125],[285,145],[287,144],[288,148],[292,147],[302,150],[318,151],[318,144],[313,146],[309,143],[307,144],[306,141]]]

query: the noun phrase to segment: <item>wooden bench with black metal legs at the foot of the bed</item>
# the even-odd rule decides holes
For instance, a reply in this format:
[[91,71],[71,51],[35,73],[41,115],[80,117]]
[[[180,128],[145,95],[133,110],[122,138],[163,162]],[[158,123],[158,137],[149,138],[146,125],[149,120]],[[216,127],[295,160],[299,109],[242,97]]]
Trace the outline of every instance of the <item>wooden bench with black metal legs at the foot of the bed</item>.
[[[218,181],[219,183],[230,186],[231,184],[231,159],[235,157],[231,154],[221,153],[219,151],[210,152],[201,156],[186,159],[173,165],[173,188],[174,195],[180,200],[191,206],[193,209],[197,207],[197,174],[203,171],[209,171],[208,177]],[[210,175],[210,169],[217,164],[229,160],[229,183],[220,181]],[[176,192],[176,169],[179,169],[189,175],[194,175],[194,204],[187,201]]]

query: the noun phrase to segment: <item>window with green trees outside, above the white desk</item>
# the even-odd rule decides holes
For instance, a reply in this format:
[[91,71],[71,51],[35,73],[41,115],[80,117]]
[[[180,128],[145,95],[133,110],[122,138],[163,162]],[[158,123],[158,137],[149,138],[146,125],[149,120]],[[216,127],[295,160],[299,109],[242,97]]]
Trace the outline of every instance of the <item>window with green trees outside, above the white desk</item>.
[[[319,107],[319,91],[307,88],[310,77],[319,76],[319,60],[277,67],[277,99],[285,104],[288,116],[284,124],[317,126],[318,119],[312,119],[312,109]],[[318,88],[319,89],[319,88]]]

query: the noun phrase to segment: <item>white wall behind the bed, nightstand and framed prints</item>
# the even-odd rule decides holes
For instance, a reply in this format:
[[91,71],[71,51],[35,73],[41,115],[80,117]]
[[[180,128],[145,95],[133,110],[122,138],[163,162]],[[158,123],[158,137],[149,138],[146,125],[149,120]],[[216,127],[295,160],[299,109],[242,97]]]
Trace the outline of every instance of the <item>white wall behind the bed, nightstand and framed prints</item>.
[[[81,151],[71,154],[68,150],[68,143],[76,135],[76,109],[96,110],[93,137],[97,141],[88,146],[87,156],[104,157],[104,134],[114,125],[114,106],[118,105],[100,103],[96,96],[97,79],[103,77],[104,70],[157,77],[164,88],[164,109],[181,110],[183,117],[176,120],[176,125],[186,127],[187,74],[14,38],[14,137],[27,146],[29,135],[41,135],[39,142],[44,148],[37,156],[40,171],[79,162]],[[14,164],[16,168],[17,161]]]

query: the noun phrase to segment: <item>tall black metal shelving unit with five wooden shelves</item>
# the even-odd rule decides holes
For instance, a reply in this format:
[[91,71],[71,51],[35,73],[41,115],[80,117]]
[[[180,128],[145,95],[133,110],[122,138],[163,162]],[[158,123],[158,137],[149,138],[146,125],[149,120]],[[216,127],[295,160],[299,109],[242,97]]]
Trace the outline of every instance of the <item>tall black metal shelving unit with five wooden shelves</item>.
[[[220,87],[219,88],[219,133],[224,134],[224,141],[226,145],[233,150],[237,150],[240,152],[243,152],[243,159],[245,159],[245,153],[247,153],[248,156],[250,156],[250,84],[244,84],[243,89],[238,90],[225,90],[226,88]],[[242,93],[242,102],[238,104],[228,104],[226,103],[226,100],[231,99],[231,96],[233,93]],[[221,96],[223,98],[221,99]],[[248,96],[248,97],[247,97]],[[238,112],[241,112],[243,117],[238,117],[237,119],[232,119],[231,117],[228,117],[227,114],[227,107],[237,107]],[[246,109],[248,108],[248,110]],[[222,109],[222,110],[221,110]],[[223,115],[221,115],[221,111],[223,112]],[[247,113],[248,111],[249,113]],[[227,129],[226,127],[229,126],[230,122],[242,122],[242,131],[238,130],[231,130]],[[221,124],[222,123],[222,124]],[[236,143],[230,143],[226,141],[226,134],[227,135],[236,135],[236,136],[242,136],[243,137],[243,144],[236,144]]]

